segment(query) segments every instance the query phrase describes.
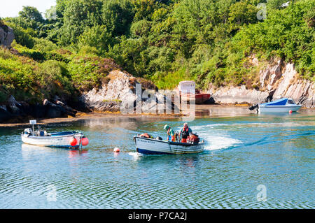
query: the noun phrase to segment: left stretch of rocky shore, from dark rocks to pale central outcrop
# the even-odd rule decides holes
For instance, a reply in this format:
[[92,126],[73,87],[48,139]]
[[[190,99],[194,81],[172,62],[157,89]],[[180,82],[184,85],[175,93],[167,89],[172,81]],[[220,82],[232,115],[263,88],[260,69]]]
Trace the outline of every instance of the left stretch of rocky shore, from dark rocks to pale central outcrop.
[[[55,95],[50,101],[45,99],[42,104],[30,105],[25,101],[16,101],[11,95],[6,103],[0,105],[0,123],[20,123],[33,118],[77,117],[77,113],[120,114],[123,113],[124,106],[129,106],[127,115],[132,115],[137,110],[136,104],[141,108],[141,114],[155,114],[160,104],[164,106],[161,115],[169,116],[166,110],[178,109],[172,101],[165,103],[169,100],[166,96],[151,91],[151,88],[157,89],[157,87],[148,80],[139,80],[127,72],[118,70],[111,71],[107,78],[109,82],[103,83],[99,88],[83,92],[76,103],[73,101],[67,103]],[[151,91],[150,95],[138,95],[137,85],[140,86],[140,92],[146,89]],[[176,114],[170,115],[176,116]]]

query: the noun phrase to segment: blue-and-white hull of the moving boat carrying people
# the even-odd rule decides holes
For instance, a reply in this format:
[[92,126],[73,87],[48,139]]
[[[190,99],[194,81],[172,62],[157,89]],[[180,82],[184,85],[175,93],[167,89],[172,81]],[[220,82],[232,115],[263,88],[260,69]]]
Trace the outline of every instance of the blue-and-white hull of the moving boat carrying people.
[[173,141],[162,141],[162,138],[148,138],[134,136],[137,152],[142,154],[190,154],[204,150],[204,141],[188,141],[179,143]]

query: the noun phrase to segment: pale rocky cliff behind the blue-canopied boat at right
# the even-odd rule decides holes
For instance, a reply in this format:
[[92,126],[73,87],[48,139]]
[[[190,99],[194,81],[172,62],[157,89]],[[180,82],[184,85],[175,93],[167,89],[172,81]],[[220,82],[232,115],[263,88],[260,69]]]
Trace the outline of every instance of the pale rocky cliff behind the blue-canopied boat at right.
[[[257,64],[256,61],[253,66]],[[305,108],[315,108],[315,83],[300,79],[293,64],[284,64],[279,60],[275,65],[260,70],[259,78],[259,90],[246,89],[245,85],[218,89],[209,85],[208,92],[219,103],[255,104],[288,97]]]

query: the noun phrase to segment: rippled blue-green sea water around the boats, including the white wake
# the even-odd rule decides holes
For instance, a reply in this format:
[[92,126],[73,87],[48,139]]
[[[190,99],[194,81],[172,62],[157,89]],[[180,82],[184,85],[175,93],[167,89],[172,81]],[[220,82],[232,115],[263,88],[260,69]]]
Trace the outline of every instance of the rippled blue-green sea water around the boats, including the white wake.
[[201,154],[137,154],[132,136],[165,138],[165,124],[183,122],[45,126],[83,131],[81,152],[25,145],[25,127],[0,128],[0,208],[315,208],[314,113],[198,118],[190,127],[207,141]]

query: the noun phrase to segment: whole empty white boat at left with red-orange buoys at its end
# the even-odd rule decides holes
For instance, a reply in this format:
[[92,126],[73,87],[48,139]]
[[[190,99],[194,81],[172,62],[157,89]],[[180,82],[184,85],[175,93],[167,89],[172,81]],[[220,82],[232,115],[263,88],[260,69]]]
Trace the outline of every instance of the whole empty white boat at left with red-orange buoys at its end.
[[39,126],[38,130],[34,131],[36,120],[30,120],[29,123],[33,125],[33,128],[27,128],[22,132],[21,138],[23,143],[73,149],[81,149],[82,146],[89,143],[88,139],[78,131],[62,131],[50,134],[47,131],[40,129]]

